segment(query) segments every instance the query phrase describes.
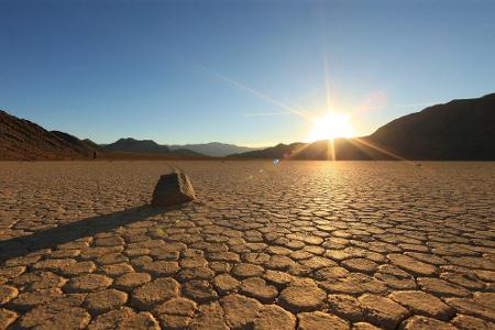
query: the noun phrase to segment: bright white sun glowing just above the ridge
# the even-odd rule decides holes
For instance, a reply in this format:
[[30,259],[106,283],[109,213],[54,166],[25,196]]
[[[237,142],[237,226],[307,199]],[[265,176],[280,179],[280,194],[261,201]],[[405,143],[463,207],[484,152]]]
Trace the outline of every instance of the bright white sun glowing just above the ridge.
[[308,141],[334,140],[337,138],[351,138],[352,127],[349,116],[329,111],[324,117],[314,120]]

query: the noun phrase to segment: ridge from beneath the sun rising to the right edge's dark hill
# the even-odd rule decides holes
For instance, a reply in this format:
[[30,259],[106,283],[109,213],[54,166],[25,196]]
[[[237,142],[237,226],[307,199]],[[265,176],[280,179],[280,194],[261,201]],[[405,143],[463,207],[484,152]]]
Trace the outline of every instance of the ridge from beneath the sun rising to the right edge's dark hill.
[[[283,156],[285,155],[285,156]],[[231,155],[292,160],[495,161],[495,94],[398,118],[369,136],[278,144]]]

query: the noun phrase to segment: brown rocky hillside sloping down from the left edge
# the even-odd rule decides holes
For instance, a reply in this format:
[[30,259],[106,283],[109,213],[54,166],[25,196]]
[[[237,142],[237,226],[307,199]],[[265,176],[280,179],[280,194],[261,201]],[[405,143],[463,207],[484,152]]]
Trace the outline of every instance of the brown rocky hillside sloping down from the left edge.
[[73,160],[92,156],[79,139],[48,132],[42,127],[0,110],[0,160]]

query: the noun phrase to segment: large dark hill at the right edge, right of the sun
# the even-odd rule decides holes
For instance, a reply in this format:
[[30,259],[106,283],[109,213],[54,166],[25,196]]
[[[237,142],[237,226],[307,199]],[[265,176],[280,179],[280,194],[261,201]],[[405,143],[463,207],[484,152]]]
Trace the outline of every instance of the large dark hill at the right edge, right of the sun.
[[410,160],[495,160],[495,94],[426,108],[367,139]]

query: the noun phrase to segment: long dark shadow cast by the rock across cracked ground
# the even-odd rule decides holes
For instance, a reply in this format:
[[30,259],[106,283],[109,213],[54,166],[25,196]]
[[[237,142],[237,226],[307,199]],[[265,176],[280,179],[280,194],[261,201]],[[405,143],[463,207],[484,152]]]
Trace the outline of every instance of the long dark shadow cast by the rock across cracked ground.
[[56,228],[35,232],[31,235],[0,241],[0,263],[4,263],[10,258],[24,256],[38,250],[54,249],[59,244],[85,237],[92,237],[100,232],[111,231],[121,226],[142,221],[148,217],[163,215],[180,208],[182,206],[157,208],[151,205],[143,205],[123,211],[75,220]]

